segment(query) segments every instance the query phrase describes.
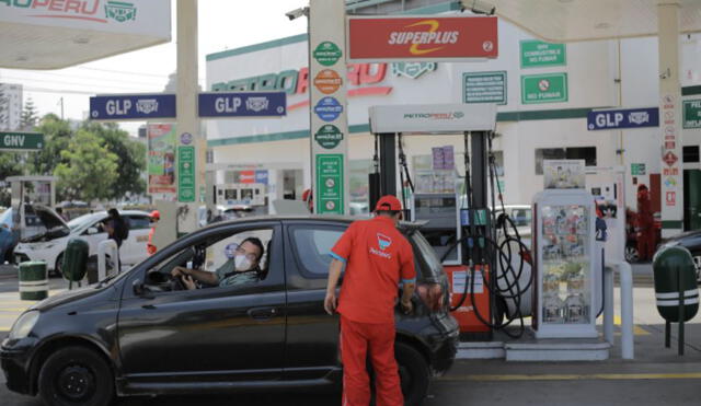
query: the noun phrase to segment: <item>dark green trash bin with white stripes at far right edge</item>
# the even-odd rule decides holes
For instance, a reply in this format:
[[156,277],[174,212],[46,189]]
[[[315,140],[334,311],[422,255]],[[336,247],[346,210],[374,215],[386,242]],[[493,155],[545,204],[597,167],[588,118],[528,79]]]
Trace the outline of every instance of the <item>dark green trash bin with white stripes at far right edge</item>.
[[667,322],[679,323],[679,292],[683,294],[683,322],[699,311],[699,288],[689,251],[681,246],[664,248],[653,258],[657,311]]

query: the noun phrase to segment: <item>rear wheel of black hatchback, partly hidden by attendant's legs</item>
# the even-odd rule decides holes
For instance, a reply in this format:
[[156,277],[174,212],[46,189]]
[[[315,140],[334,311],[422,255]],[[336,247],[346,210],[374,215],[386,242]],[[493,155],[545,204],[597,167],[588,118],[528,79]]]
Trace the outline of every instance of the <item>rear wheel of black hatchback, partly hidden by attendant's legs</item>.
[[404,394],[404,405],[418,406],[426,398],[430,376],[426,359],[413,347],[397,343],[394,357]]

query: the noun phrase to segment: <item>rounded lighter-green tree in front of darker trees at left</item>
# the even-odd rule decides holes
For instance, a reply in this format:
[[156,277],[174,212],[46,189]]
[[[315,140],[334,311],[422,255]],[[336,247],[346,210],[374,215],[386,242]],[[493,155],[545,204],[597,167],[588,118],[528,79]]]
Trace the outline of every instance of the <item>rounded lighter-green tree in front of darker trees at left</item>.
[[113,194],[117,179],[118,156],[94,134],[80,129],[60,152],[55,170],[59,195],[67,199],[92,201]]

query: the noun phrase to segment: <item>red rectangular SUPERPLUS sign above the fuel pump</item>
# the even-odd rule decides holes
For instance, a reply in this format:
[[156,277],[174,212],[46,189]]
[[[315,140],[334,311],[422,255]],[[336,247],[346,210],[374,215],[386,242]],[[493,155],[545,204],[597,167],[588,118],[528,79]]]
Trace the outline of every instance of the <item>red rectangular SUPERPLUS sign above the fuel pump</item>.
[[495,16],[348,19],[349,61],[496,58]]

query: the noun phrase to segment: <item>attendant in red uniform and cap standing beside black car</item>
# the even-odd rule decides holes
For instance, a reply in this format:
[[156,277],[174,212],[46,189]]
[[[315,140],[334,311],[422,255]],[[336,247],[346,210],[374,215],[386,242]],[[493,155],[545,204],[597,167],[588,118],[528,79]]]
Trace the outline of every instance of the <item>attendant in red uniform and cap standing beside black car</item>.
[[[369,351],[375,370],[378,406],[404,404],[394,359],[394,305],[400,280],[403,283],[402,311],[413,311],[416,287],[412,246],[397,230],[402,205],[397,197],[383,196],[375,218],[348,227],[331,250],[324,309],[341,314],[341,358],[343,362],[343,405],[367,406],[370,386],[366,369]],[[345,265],[341,295],[336,285]]]

